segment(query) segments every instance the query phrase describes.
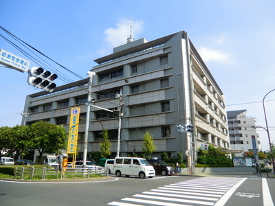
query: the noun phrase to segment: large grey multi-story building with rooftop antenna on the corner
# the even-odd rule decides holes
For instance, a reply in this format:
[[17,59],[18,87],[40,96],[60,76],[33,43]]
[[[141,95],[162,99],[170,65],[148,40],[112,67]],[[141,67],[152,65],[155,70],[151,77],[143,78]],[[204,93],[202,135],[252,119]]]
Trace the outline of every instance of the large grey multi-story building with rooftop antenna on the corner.
[[[99,151],[102,129],[109,130],[112,155],[118,148],[118,113],[121,108],[120,156],[142,153],[148,131],[157,149],[176,157],[201,143],[229,148],[225,98],[186,32],[154,41],[145,38],[115,47],[113,54],[95,60],[87,151]],[[80,107],[78,145],[83,155],[87,113],[87,82],[56,87],[53,93],[28,95],[26,124],[40,119],[68,128],[70,109]],[[117,94],[120,94],[120,98]],[[120,101],[121,100],[121,101]],[[177,126],[192,124],[193,133],[179,133]]]

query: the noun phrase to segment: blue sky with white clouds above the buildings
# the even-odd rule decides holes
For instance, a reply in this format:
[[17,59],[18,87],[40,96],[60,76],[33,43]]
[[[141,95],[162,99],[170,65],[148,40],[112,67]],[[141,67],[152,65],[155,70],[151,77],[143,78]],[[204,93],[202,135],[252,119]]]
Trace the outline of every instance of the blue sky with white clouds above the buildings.
[[[272,0],[2,0],[0,25],[83,78],[97,65],[96,58],[126,43],[130,19],[135,39],[153,41],[184,30],[225,94],[228,111],[247,109],[247,116],[256,117],[256,124],[265,126],[261,101],[275,89],[274,9]],[[2,30],[0,34],[7,37]],[[1,37],[0,48],[26,58]],[[30,67],[34,66],[38,65],[31,61]],[[27,73],[0,67],[0,76],[0,126],[16,126],[21,124],[25,96],[39,89],[28,85]],[[56,84],[65,82],[57,79]],[[270,137],[275,143],[274,101],[268,101],[275,100],[275,92],[265,100]],[[267,133],[258,131],[266,150]]]

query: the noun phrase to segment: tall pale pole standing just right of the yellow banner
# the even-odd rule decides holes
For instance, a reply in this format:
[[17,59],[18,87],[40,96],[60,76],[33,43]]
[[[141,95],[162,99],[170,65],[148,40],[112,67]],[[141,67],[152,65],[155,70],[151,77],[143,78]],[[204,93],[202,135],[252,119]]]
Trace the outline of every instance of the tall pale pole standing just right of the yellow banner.
[[83,168],[86,168],[87,161],[87,150],[88,150],[88,135],[89,135],[89,122],[90,122],[90,111],[91,111],[91,86],[93,83],[93,76],[96,73],[88,71],[87,75],[89,77],[88,82],[88,102],[87,102],[87,113],[86,113],[86,128],[85,128],[85,138],[84,138],[84,151],[83,151]]

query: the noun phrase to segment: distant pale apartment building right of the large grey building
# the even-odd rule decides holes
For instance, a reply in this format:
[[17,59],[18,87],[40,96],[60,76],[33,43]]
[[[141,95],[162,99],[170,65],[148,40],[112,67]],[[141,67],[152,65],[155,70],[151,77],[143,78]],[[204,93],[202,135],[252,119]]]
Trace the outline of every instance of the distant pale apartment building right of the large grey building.
[[[245,113],[247,113],[246,109],[227,112],[230,148],[243,150],[243,152],[253,151],[252,137],[255,137],[256,149],[260,151],[260,138],[255,130],[256,117],[247,117]],[[242,154],[238,153],[236,156],[242,156]]]

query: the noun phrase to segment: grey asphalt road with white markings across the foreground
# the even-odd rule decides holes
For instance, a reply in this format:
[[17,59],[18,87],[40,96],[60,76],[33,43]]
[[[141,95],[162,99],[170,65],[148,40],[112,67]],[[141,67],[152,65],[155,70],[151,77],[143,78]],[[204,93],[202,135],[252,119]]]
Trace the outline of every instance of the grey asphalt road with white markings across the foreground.
[[[266,196],[268,192],[264,187],[265,182],[270,197]],[[195,192],[200,191],[199,195],[203,194],[204,190],[206,190],[207,193],[209,190],[215,191],[216,187],[219,188],[218,191],[224,190],[224,192],[221,192],[222,194],[220,197],[209,197],[209,201],[205,198],[206,195],[197,201],[194,197],[192,197],[193,195],[190,194],[190,192],[183,192],[186,193],[181,194],[183,196],[171,197],[170,193],[164,193],[164,191],[167,191],[164,190],[166,187],[170,190],[174,190],[174,188],[186,188],[179,190],[194,190]],[[192,187],[194,187],[194,189],[192,189]],[[212,187],[214,189],[209,189]],[[160,190],[163,190],[161,191],[161,195],[157,194]],[[218,194],[219,193],[220,192],[218,192]],[[275,194],[275,179],[265,179],[257,176],[245,178],[224,176],[155,176],[153,179],[139,179],[134,177],[116,178],[113,176],[108,180],[91,182],[74,181],[72,183],[19,183],[0,181],[1,206],[80,206],[107,205],[110,203],[124,203],[126,205],[157,205],[157,202],[165,202],[165,204],[162,205],[216,204],[219,206],[261,206],[263,205],[264,200],[268,201],[271,199],[271,201],[275,203],[275,197],[273,194]],[[162,198],[163,195],[166,196]],[[153,199],[151,199],[151,196],[153,196]],[[156,200],[155,198],[159,198],[159,200]],[[141,202],[139,203],[138,201]],[[142,203],[142,201],[155,202]],[[265,206],[272,206],[271,204],[272,202],[265,202]]]

